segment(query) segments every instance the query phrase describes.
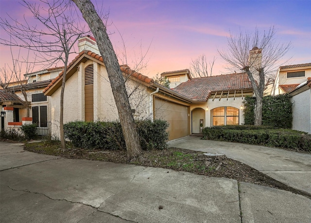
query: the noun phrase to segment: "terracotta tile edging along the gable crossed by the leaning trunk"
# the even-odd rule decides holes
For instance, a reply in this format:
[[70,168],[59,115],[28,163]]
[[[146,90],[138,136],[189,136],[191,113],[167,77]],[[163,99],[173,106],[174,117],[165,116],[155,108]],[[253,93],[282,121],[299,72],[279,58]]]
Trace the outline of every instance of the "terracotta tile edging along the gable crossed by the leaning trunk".
[[[92,51],[88,51],[88,50],[84,50],[84,51],[81,51],[70,63],[69,65],[67,66],[67,70],[69,70],[69,68],[76,62],[78,61],[78,59],[83,56],[83,55],[88,55],[96,60],[99,60],[101,62],[104,62],[104,59],[101,55],[98,55],[97,53],[95,52],[92,52]],[[142,81],[142,82],[145,82],[147,84],[150,84],[151,82],[153,82],[153,79],[145,76],[145,75],[142,75],[141,73],[138,73],[136,72],[135,70],[132,70],[130,69],[127,65],[121,65],[120,66],[120,69],[122,72],[128,74],[128,75],[131,75],[131,77],[134,77],[136,79],[138,79],[139,81]],[[43,93],[45,93],[47,90],[49,90],[55,83],[56,81],[58,81],[58,79],[60,79],[64,74],[64,71],[62,71],[58,76],[56,76],[56,78],[54,80],[52,80],[51,84],[49,84],[44,90],[43,90]]]

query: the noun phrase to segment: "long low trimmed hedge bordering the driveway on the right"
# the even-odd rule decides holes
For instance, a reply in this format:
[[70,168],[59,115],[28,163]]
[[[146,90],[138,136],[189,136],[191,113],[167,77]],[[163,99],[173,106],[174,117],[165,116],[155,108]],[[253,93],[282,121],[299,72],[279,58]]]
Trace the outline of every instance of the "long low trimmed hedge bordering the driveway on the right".
[[[223,128],[222,128],[223,127]],[[311,152],[311,135],[265,126],[214,126],[203,129],[204,139],[240,142]]]

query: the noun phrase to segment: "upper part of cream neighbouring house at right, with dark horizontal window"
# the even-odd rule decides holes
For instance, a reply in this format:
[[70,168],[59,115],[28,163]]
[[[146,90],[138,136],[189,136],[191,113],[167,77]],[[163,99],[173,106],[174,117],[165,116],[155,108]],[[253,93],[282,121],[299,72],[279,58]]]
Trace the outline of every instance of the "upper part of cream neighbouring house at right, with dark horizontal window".
[[[265,90],[266,95],[290,93],[311,77],[311,63],[282,66],[277,69],[276,79]],[[271,87],[272,86],[272,87]]]

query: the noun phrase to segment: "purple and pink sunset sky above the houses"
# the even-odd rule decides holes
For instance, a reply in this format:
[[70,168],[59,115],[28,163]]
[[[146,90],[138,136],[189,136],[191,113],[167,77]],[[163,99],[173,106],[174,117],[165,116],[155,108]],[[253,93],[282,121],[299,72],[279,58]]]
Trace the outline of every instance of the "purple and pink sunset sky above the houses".
[[[102,7],[101,1],[94,1]],[[216,62],[213,75],[229,73],[217,49],[227,48],[227,36],[241,31],[276,28],[280,42],[292,42],[287,64],[311,62],[311,1],[237,1],[237,0],[114,0],[104,1],[109,11],[108,32],[119,55],[124,40],[127,63],[133,67],[140,51],[147,52],[147,68],[141,72],[153,77],[165,71],[188,69],[191,59],[206,54]],[[17,0],[0,0],[0,17],[22,18],[29,14]],[[5,36],[0,30],[1,38]],[[0,68],[10,65],[10,48],[0,46]],[[15,51],[17,51],[15,49]],[[71,58],[71,60],[73,57]],[[121,61],[120,63],[123,63]]]

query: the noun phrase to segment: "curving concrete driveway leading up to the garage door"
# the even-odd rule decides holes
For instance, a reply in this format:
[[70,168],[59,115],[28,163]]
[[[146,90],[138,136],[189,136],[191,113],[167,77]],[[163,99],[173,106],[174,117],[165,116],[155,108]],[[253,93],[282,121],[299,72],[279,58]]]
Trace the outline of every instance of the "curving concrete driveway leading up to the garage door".
[[311,154],[235,142],[183,137],[169,142],[171,147],[225,154],[272,178],[311,194]]

